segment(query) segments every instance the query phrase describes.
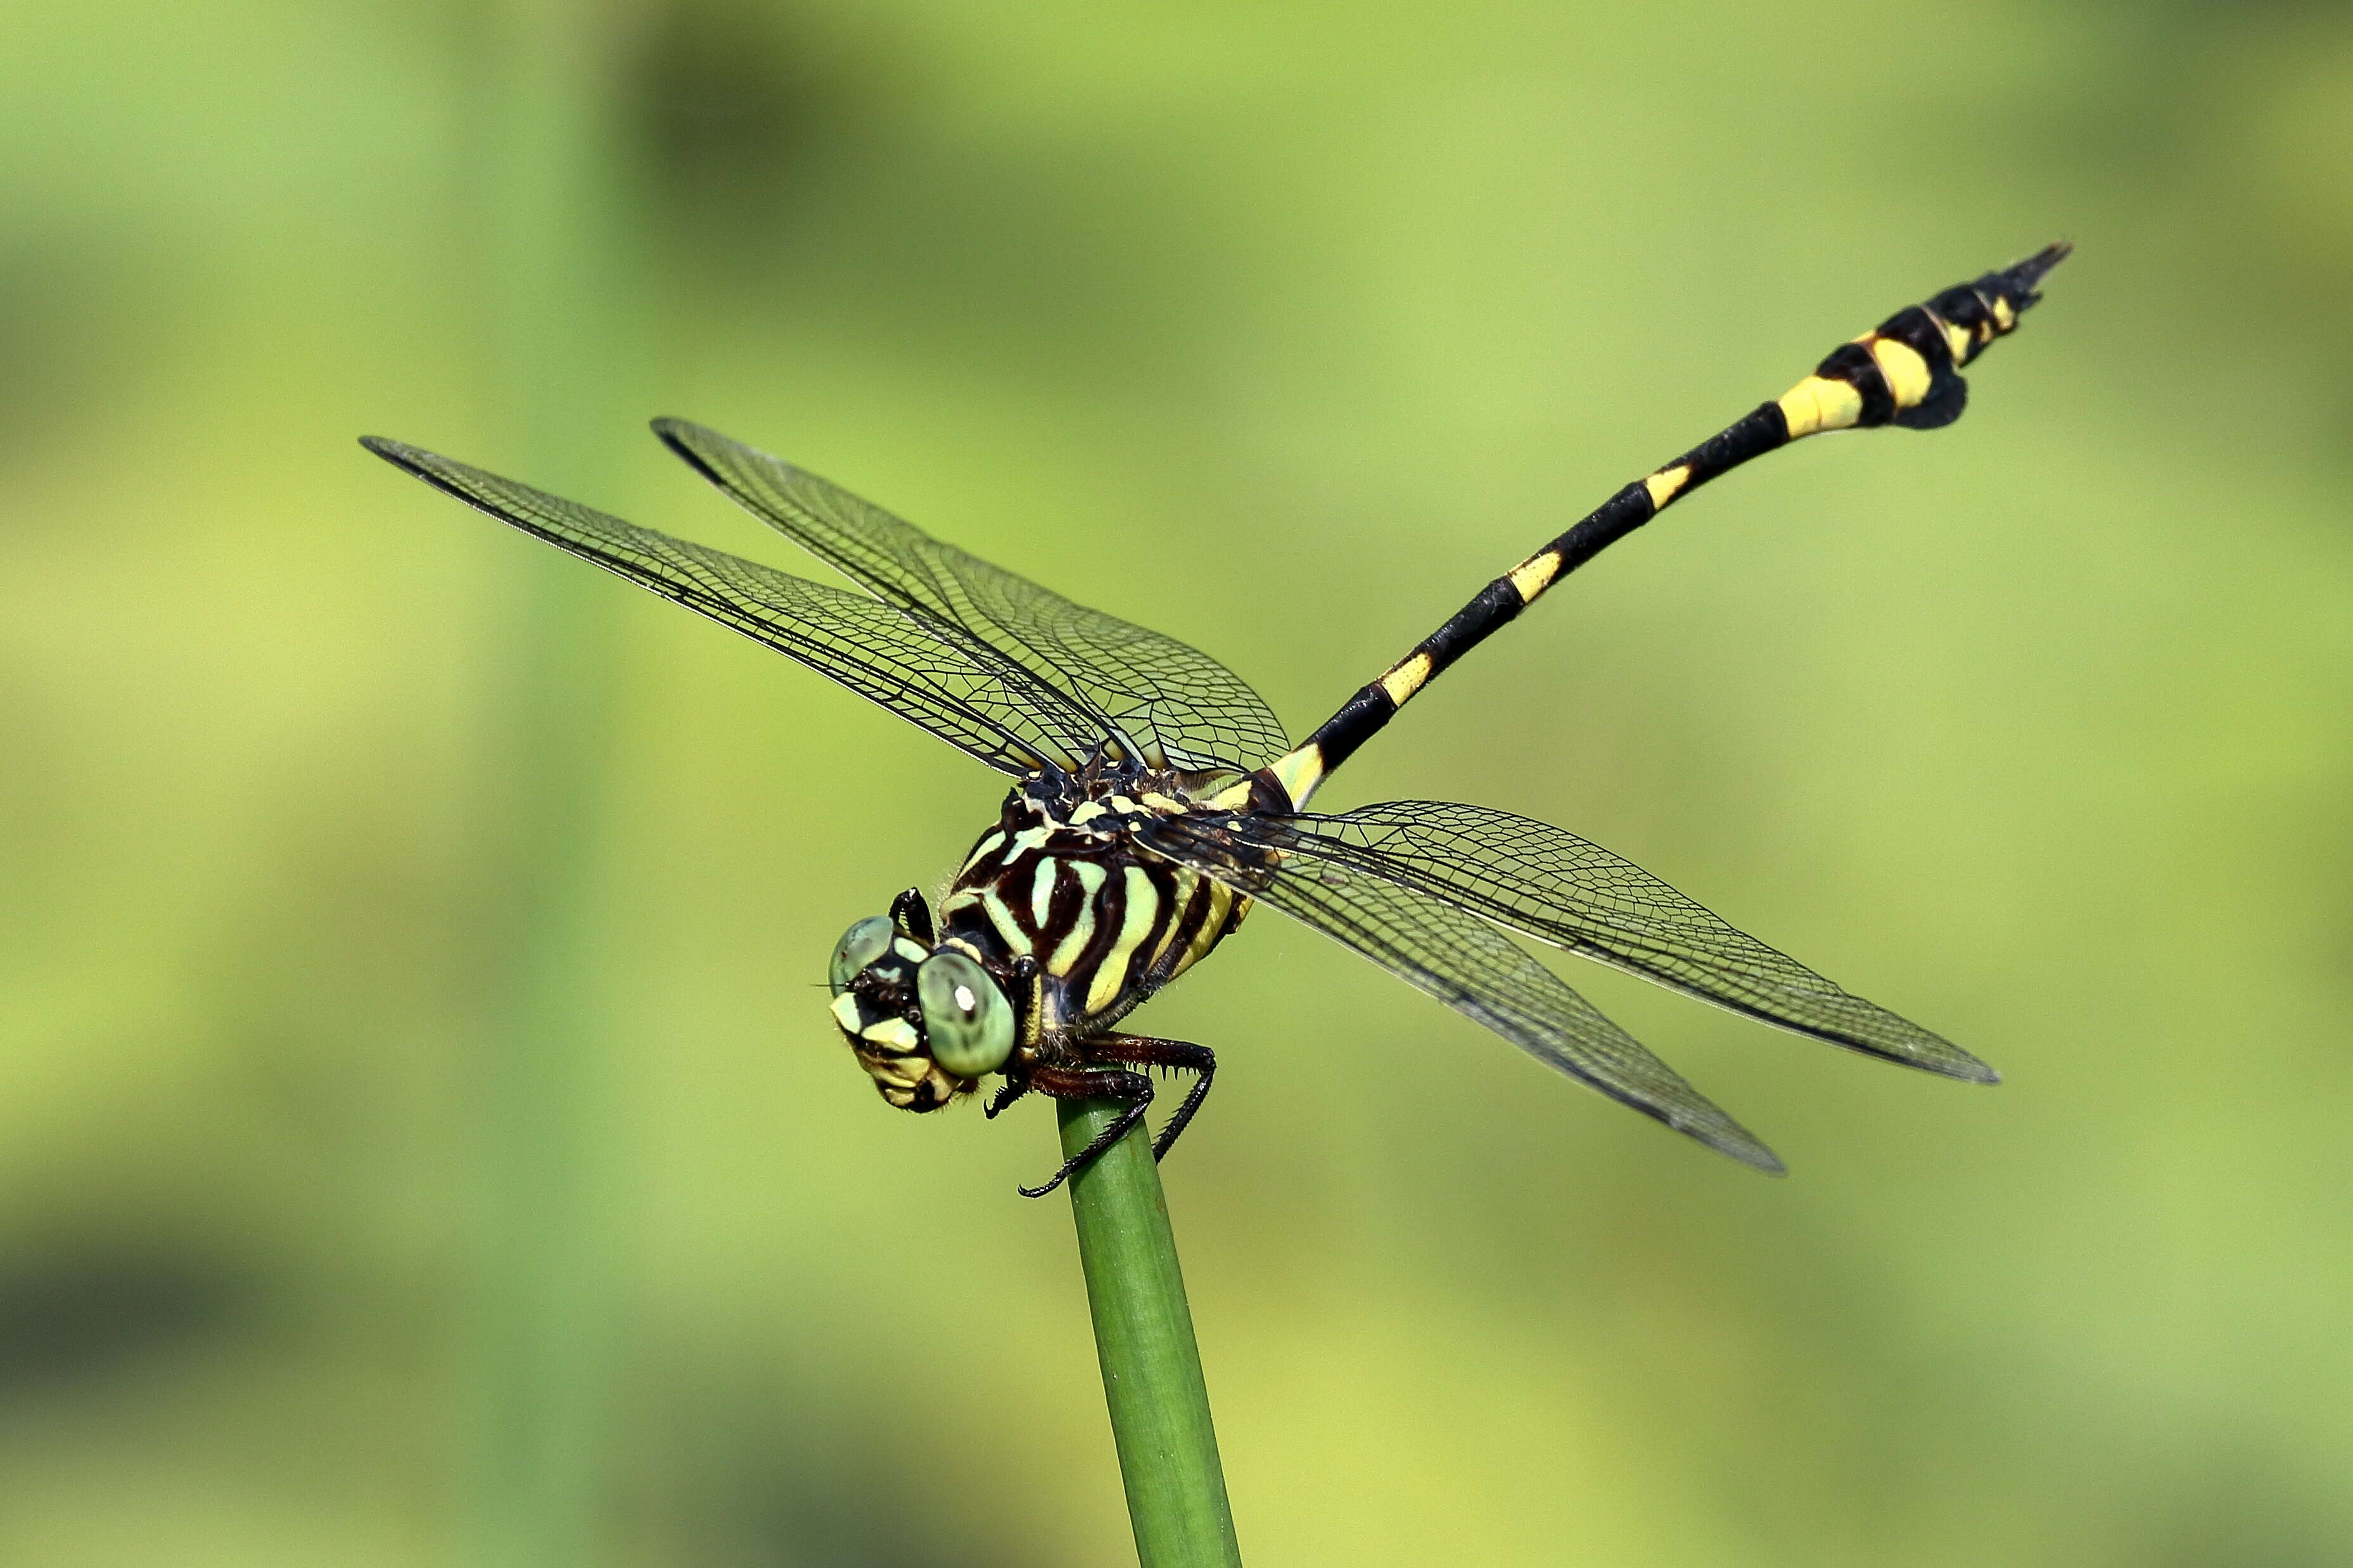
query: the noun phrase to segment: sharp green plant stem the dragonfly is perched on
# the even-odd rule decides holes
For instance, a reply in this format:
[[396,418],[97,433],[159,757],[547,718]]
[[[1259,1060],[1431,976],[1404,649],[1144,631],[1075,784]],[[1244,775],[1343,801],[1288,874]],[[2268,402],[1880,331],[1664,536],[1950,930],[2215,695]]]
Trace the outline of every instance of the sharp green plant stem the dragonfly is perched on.
[[[1120,1105],[1061,1100],[1056,1112],[1061,1150],[1071,1157],[1120,1114]],[[1071,1178],[1071,1213],[1136,1561],[1144,1568],[1240,1568],[1193,1309],[1184,1300],[1176,1237],[1144,1126]]]

